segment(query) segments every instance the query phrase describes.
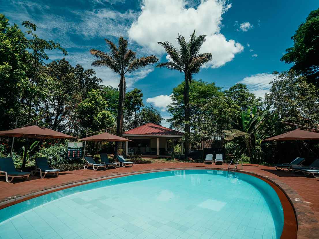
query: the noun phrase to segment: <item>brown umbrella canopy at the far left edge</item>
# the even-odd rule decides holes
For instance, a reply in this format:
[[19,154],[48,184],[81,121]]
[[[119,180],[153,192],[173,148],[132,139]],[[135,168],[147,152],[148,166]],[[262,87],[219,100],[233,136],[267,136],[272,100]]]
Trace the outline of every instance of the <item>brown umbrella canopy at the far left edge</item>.
[[39,127],[37,125],[0,131],[0,136],[33,139],[76,139],[76,137],[70,136],[68,134],[63,134],[52,129]]

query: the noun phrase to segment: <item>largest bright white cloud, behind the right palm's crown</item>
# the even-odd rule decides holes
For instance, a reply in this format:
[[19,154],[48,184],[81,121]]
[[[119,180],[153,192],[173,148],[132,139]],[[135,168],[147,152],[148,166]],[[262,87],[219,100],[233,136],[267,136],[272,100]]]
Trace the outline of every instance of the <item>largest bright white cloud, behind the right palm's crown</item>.
[[187,38],[195,29],[197,35],[207,35],[201,52],[210,52],[213,56],[213,60],[204,67],[223,66],[244,49],[240,43],[227,40],[220,33],[222,15],[232,6],[227,2],[203,0],[197,8],[187,8],[189,4],[185,0],[144,0],[141,14],[128,31],[129,37],[142,47],[160,54],[164,53],[164,49],[158,41],[169,41],[178,47],[178,33]]

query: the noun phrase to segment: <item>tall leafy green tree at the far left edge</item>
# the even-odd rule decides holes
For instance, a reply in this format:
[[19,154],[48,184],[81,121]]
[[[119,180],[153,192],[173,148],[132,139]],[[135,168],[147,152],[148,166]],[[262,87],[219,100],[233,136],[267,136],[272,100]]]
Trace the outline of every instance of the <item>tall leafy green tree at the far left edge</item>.
[[[0,14],[0,129],[14,127],[16,119],[21,120],[21,92],[29,70],[29,52],[24,33],[18,25],[11,26]],[[21,115],[20,115],[21,113]],[[25,117],[25,115],[23,115]]]

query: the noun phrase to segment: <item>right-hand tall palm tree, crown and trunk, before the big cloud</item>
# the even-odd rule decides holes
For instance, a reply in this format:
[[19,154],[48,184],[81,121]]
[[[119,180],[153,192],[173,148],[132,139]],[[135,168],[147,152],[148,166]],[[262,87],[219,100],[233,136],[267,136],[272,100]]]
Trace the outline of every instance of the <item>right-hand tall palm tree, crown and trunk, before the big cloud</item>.
[[189,154],[189,137],[190,137],[190,108],[189,108],[189,83],[193,80],[193,74],[197,74],[203,64],[211,61],[211,53],[199,54],[199,50],[206,40],[206,35],[195,36],[196,31],[190,35],[189,41],[178,34],[177,42],[179,50],[171,43],[158,42],[164,47],[170,60],[168,62],[158,63],[156,67],[166,67],[171,70],[178,70],[184,74],[185,90],[184,90],[184,131],[185,131],[185,159],[188,159]]

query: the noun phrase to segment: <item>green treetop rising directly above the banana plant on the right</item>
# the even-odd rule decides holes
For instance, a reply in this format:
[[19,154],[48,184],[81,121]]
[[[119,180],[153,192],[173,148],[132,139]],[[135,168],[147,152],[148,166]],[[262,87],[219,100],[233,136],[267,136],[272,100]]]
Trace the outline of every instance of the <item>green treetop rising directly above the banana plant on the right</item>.
[[262,105],[262,98],[256,98],[254,93],[249,92],[245,84],[237,83],[228,90],[225,90],[224,93],[235,104],[239,105],[242,111],[246,111],[250,105],[255,105],[256,107]]

